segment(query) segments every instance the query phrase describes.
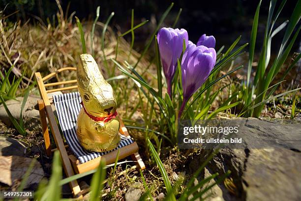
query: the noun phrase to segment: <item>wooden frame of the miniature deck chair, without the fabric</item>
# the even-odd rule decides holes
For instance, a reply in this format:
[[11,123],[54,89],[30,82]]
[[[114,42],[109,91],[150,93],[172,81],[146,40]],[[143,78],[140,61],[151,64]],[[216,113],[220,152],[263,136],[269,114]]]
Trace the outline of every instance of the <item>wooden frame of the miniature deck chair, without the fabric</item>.
[[[38,106],[39,106],[40,121],[41,121],[41,125],[42,125],[42,133],[43,133],[44,142],[45,142],[46,154],[47,154],[47,156],[51,156],[52,152],[54,152],[55,150],[59,150],[65,174],[67,177],[70,177],[70,176],[74,175],[75,173],[83,173],[83,172],[87,172],[89,170],[95,169],[96,167],[98,167],[99,162],[102,159],[105,159],[106,165],[114,163],[115,159],[117,157],[118,150],[112,151],[108,154],[105,154],[103,156],[100,156],[98,158],[90,160],[84,164],[80,164],[79,160],[74,155],[72,155],[72,154],[68,155],[67,150],[66,150],[66,147],[68,147],[68,145],[65,145],[63,142],[63,139],[60,135],[59,126],[57,124],[57,121],[56,121],[56,118],[54,115],[54,111],[52,110],[52,107],[51,107],[52,98],[49,98],[47,96],[47,94],[52,93],[52,92],[57,92],[57,91],[68,91],[68,90],[72,90],[72,89],[77,89],[78,88],[77,80],[46,83],[48,80],[50,80],[54,76],[57,76],[58,73],[65,71],[65,70],[76,71],[76,67],[60,68],[56,72],[52,72],[43,78],[41,77],[41,74],[39,72],[36,72],[35,78],[37,80],[38,90],[39,90],[40,96],[42,98],[41,100],[38,100]],[[63,86],[65,84],[73,84],[73,83],[74,83],[74,86],[46,90],[46,88],[50,87],[50,86],[51,87]],[[57,146],[57,148],[54,148],[54,149],[52,149],[52,147],[51,147],[46,118],[48,118],[51,133],[53,135],[54,141]],[[120,119],[120,133],[123,135],[129,135],[126,128],[124,127],[124,124],[121,121],[121,119]],[[137,162],[137,166],[133,166],[133,167],[145,169],[145,165],[138,153],[138,145],[136,142],[129,144],[127,146],[124,146],[124,147],[120,148],[119,150],[120,150],[119,160],[123,159],[127,156],[131,156],[131,158]],[[81,192],[80,186],[78,185],[77,180],[71,181],[69,183],[69,185],[70,185],[70,188],[72,190],[74,197],[78,197],[78,198],[82,197],[82,192]]]

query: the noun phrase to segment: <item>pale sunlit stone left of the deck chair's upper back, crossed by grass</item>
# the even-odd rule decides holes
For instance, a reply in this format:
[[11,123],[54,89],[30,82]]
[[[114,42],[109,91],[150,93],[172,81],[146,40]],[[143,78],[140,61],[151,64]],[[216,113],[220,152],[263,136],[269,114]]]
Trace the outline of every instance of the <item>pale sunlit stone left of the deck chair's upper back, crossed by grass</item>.
[[[29,96],[25,107],[23,109],[22,115],[23,119],[38,119],[39,118],[39,111],[35,109],[35,105],[37,104],[37,100],[40,100],[40,98],[37,97],[31,97]],[[16,100],[7,100],[5,101],[10,113],[12,116],[16,119],[20,118],[20,110],[22,106],[23,97],[17,97]],[[3,121],[7,126],[11,126],[12,123],[9,119],[9,116],[3,107],[3,104],[0,105],[0,120]]]

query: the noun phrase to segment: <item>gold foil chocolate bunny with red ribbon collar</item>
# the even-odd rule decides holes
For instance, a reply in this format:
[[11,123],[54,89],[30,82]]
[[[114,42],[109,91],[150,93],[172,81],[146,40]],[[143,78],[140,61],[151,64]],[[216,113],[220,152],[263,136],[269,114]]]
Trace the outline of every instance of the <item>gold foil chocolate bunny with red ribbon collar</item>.
[[113,89],[90,54],[82,54],[80,59],[82,65],[77,67],[77,83],[83,107],[77,117],[76,134],[85,149],[109,151],[120,143]]

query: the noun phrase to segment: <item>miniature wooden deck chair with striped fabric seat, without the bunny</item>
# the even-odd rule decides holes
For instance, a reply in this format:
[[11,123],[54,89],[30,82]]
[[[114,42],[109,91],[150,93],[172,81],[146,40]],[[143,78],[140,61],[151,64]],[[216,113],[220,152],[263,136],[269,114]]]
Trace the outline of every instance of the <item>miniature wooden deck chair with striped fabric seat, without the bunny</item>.
[[[121,142],[118,148],[108,152],[90,152],[80,145],[76,136],[76,119],[81,108],[81,98],[79,93],[72,92],[60,94],[53,96],[52,98],[49,98],[47,95],[52,92],[77,89],[77,80],[44,84],[52,77],[57,76],[58,73],[65,70],[76,71],[76,67],[60,68],[56,72],[52,72],[43,78],[39,72],[35,73],[38,90],[42,98],[42,100],[38,100],[38,106],[47,156],[51,156],[52,152],[55,150],[60,151],[63,168],[67,177],[72,176],[75,173],[83,173],[97,168],[100,160],[102,159],[105,159],[106,165],[114,163],[118,149],[120,150],[119,160],[131,156],[132,159],[137,162],[137,168],[145,169],[145,165],[138,153],[138,145],[128,134],[121,119]],[[46,90],[46,88],[50,86],[62,86],[73,83],[74,86]],[[51,102],[54,102],[55,104],[59,125],[57,124],[55,113],[51,107]],[[55,149],[51,148],[46,117],[48,118],[51,133],[57,146]],[[64,140],[60,134],[60,129],[63,133],[66,144],[64,144]],[[77,180],[71,181],[69,185],[74,197],[82,197],[82,192]]]

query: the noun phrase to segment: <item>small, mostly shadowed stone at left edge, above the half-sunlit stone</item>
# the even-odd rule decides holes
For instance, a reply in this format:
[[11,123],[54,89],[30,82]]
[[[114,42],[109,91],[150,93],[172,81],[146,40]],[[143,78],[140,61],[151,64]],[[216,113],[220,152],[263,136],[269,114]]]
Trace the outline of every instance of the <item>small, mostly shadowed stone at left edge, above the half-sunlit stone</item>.
[[27,144],[17,139],[0,136],[0,156],[24,156]]

